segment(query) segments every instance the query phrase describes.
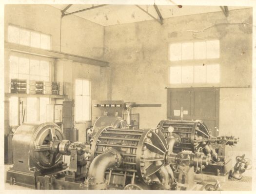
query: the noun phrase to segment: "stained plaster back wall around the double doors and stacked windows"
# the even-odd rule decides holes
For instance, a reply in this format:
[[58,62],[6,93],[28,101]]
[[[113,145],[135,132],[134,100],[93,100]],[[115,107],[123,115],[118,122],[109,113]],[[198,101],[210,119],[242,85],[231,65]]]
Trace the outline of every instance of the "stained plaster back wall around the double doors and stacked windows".
[[[244,24],[248,23],[248,24]],[[143,21],[105,27],[105,59],[111,64],[111,90],[113,100],[137,103],[161,103],[162,107],[134,108],[140,114],[140,128],[156,127],[167,117],[167,91],[165,87],[227,87],[252,85],[252,9],[230,11],[226,18],[223,12],[213,12],[191,16]],[[189,31],[200,32],[189,32]],[[202,39],[219,39],[220,58],[198,60],[198,63],[219,63],[220,82],[218,84],[169,84],[168,45],[172,42],[186,42]],[[190,63],[191,61],[187,61]],[[195,62],[195,61],[194,61]],[[182,63],[185,65],[184,63]],[[244,138],[239,149],[250,148],[251,141],[251,89],[236,89],[232,99],[224,100],[229,89],[221,89],[220,130],[234,133]],[[231,94],[231,95],[232,95]],[[236,97],[242,94],[241,97]],[[243,98],[248,96],[248,98]],[[244,105],[238,105],[240,103]],[[234,107],[237,107],[236,111]],[[240,109],[239,109],[240,108]],[[232,114],[226,117],[227,111]],[[248,119],[244,119],[246,116]],[[240,134],[238,121],[243,123]],[[236,121],[232,123],[233,121]],[[246,122],[248,121],[248,122]],[[222,129],[224,128],[224,129]],[[230,135],[230,133],[229,133]],[[237,146],[238,147],[238,146]]]

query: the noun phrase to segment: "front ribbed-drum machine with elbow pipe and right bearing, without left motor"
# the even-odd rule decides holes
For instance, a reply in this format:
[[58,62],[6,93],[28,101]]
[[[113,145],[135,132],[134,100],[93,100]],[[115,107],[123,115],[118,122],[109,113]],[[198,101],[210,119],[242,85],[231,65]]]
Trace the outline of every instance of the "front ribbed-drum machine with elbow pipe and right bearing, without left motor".
[[[190,151],[173,154],[168,143],[158,129],[101,128],[91,144],[85,188],[120,189],[132,184],[136,189],[195,189],[194,166],[207,165],[208,157]],[[177,185],[170,164],[179,166]]]

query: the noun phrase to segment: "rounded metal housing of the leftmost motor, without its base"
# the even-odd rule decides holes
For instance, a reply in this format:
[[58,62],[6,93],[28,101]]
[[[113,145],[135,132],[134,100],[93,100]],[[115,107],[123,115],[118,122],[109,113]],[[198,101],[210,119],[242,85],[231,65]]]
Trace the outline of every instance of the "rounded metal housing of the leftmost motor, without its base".
[[55,123],[20,125],[12,140],[14,168],[24,171],[25,167],[36,167],[40,170],[53,167],[61,160],[61,155],[54,155],[54,164],[51,163],[53,154],[50,152],[50,144],[62,139],[62,132]]

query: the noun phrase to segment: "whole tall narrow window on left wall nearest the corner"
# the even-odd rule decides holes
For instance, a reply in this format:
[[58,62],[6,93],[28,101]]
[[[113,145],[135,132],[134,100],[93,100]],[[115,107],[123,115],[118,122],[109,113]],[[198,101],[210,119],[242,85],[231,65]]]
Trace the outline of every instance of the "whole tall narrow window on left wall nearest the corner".
[[76,122],[90,120],[91,112],[91,83],[87,79],[76,79]]

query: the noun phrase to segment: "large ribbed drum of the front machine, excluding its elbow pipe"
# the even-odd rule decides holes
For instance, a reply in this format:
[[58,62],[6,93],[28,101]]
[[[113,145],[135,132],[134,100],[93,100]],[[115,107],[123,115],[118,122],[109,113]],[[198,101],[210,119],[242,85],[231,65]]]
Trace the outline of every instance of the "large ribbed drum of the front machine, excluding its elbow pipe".
[[[150,184],[160,183],[158,171],[166,162],[168,145],[158,129],[129,130],[103,127],[94,136],[91,145],[91,161],[105,150],[114,148],[123,157],[114,173],[136,175]],[[112,172],[112,173],[113,173]]]

